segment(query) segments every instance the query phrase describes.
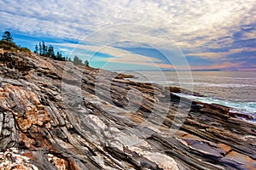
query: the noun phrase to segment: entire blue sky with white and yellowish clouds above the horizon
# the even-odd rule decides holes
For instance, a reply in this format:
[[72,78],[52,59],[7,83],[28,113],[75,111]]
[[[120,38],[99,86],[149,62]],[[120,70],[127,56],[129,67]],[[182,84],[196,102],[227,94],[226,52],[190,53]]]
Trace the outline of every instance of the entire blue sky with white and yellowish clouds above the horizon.
[[109,70],[256,71],[255,0],[1,0],[0,32]]

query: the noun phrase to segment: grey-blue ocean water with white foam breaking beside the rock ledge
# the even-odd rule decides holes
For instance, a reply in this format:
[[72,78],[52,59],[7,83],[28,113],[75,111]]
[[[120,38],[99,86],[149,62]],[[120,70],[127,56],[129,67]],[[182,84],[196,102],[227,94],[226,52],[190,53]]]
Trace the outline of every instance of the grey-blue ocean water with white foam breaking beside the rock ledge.
[[208,104],[226,105],[256,119],[256,73],[253,71],[125,71],[132,81],[186,88],[205,97],[177,94]]

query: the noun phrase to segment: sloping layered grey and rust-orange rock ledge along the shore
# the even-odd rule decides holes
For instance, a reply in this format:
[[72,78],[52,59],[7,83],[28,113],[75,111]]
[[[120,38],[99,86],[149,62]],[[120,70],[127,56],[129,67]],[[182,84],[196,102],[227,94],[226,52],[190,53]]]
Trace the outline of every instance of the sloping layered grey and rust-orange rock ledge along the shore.
[[0,65],[0,169],[256,168],[256,125],[230,108],[35,54]]

